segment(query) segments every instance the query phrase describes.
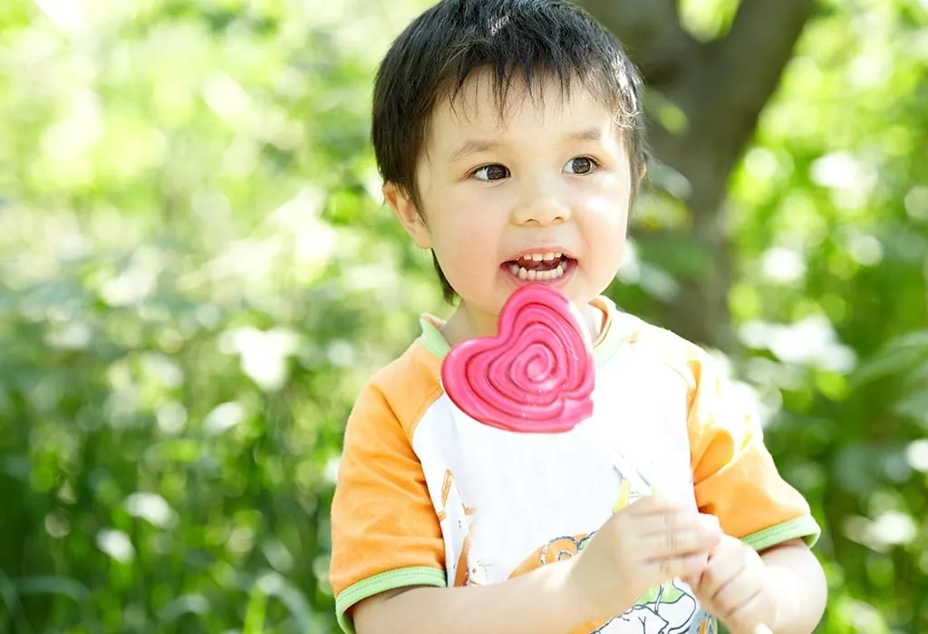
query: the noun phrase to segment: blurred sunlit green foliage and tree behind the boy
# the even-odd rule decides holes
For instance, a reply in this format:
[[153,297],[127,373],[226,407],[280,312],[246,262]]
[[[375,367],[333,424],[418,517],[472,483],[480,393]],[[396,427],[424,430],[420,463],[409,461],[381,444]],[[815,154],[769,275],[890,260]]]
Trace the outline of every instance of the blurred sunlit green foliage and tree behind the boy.
[[[0,2],[0,632],[335,631],[344,421],[449,311],[367,138],[429,4]],[[928,631],[928,2],[583,4],[650,84],[612,298],[762,406],[819,631]]]

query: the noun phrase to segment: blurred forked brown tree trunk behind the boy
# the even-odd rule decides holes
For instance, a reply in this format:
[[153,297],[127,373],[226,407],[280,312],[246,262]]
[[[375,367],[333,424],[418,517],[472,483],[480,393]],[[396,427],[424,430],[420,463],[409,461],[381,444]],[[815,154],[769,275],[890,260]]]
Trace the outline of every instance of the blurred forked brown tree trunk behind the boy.
[[722,212],[728,176],[757,118],[780,82],[815,0],[742,0],[727,34],[694,39],[680,25],[676,0],[577,0],[625,44],[657,91],[686,116],[677,133],[649,121],[654,155],[690,182],[690,238],[705,271],[679,280],[665,325],[726,351],[736,348],[728,315],[733,279]]

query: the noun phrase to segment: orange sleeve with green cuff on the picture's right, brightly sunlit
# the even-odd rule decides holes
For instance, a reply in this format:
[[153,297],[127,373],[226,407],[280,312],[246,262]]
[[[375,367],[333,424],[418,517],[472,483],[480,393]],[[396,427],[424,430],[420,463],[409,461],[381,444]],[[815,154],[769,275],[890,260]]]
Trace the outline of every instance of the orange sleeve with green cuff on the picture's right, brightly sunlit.
[[820,534],[802,494],[784,480],[753,408],[708,355],[690,361],[688,426],[696,503],[722,529],[758,551]]

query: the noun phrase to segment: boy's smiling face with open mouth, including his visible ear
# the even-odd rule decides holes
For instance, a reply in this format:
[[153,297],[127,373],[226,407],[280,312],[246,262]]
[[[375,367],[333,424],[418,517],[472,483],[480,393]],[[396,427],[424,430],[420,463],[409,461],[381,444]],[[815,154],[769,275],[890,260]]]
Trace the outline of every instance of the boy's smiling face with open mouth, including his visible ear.
[[501,121],[491,82],[477,75],[454,106],[435,108],[418,168],[424,222],[388,192],[470,312],[497,315],[530,283],[586,304],[625,247],[631,178],[610,109],[582,87],[562,98],[553,82],[542,99],[522,97],[511,91]]

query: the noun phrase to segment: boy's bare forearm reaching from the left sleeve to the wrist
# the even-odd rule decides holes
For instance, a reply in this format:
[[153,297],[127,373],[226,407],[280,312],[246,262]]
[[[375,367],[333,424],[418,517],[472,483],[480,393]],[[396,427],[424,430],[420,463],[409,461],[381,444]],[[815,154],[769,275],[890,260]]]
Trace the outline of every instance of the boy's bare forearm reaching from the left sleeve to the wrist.
[[354,608],[357,634],[565,634],[594,617],[569,583],[573,559],[489,586],[413,588]]

